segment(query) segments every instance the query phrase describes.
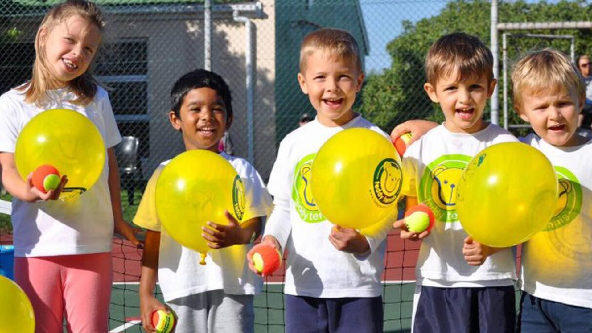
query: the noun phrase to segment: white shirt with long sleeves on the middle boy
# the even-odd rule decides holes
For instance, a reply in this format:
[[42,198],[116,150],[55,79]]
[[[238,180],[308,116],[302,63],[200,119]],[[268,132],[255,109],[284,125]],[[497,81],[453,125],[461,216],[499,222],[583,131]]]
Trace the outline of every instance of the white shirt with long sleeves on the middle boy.
[[[310,204],[313,201],[306,194],[310,172],[305,170],[310,170],[318,149],[337,132],[353,127],[365,127],[388,137],[377,126],[357,116],[342,127],[326,127],[317,120],[310,121],[289,133],[279,145],[268,184],[275,206],[265,235],[274,236],[288,252],[284,290],[287,294],[336,298],[375,297],[382,293],[384,240],[393,221],[385,221],[378,232],[366,236],[371,248],[367,257],[338,251],[329,241],[333,224],[316,205]],[[295,175],[307,179],[295,181]]]

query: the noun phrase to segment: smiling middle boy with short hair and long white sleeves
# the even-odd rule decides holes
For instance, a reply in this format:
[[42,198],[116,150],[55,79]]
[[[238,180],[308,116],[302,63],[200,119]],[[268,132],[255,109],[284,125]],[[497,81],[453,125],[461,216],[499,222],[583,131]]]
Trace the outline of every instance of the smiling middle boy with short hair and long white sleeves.
[[[288,251],[286,332],[382,332],[380,276],[390,223],[372,235],[333,226],[318,211],[308,184],[314,156],[337,132],[365,127],[388,136],[352,110],[364,74],[348,32],[313,31],[304,38],[300,59],[298,82],[317,117],[279,145],[268,184],[275,207],[263,236]],[[251,254],[247,258],[252,262]]]

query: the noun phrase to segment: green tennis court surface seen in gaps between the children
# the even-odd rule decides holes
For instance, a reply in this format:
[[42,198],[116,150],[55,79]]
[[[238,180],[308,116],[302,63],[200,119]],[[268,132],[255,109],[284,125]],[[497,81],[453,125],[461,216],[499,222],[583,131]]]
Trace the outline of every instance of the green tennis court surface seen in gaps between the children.
[[[385,333],[410,332],[414,283],[385,283]],[[266,284],[255,297],[255,332],[284,332],[283,284]],[[117,283],[111,292],[111,332],[142,332],[137,283]]]

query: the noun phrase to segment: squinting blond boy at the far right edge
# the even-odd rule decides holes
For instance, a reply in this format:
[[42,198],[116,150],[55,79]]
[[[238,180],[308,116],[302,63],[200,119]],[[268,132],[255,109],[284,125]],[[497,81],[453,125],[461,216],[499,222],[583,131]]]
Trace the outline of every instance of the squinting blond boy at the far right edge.
[[559,178],[554,217],[522,248],[519,331],[590,332],[592,325],[592,141],[576,133],[585,87],[578,70],[552,49],[519,60],[514,108],[535,134]]

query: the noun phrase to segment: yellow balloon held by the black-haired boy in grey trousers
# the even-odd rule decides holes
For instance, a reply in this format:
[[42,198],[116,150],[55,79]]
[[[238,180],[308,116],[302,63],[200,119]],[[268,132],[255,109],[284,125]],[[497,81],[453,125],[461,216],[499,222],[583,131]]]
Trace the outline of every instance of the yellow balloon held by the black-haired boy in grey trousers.
[[217,153],[186,151],[173,158],[156,182],[156,213],[166,232],[179,244],[205,254],[201,236],[208,221],[228,225],[224,211],[239,222],[244,213],[244,187],[236,169]]

